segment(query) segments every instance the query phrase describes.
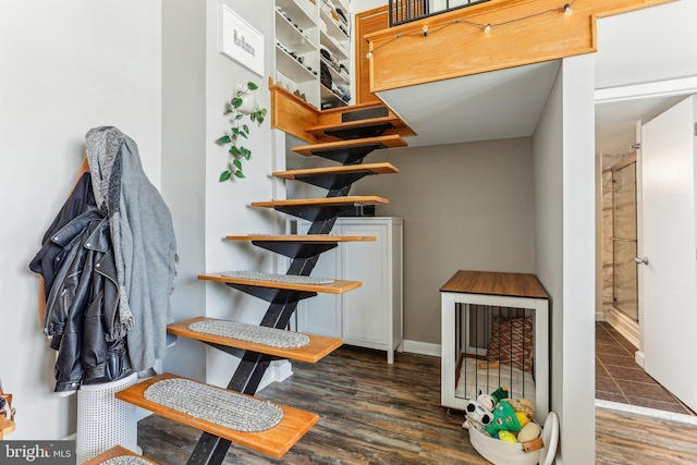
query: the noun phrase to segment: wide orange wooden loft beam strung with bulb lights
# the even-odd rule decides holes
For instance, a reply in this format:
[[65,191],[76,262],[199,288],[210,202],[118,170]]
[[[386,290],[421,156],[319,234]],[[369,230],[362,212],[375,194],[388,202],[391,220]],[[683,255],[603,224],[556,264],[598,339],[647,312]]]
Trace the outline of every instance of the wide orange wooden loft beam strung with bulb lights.
[[[365,36],[374,51],[370,90],[595,52],[598,17],[669,1],[491,0],[378,30]],[[564,14],[566,3],[572,4],[570,15]],[[486,34],[488,24],[492,27]],[[424,35],[424,26],[428,35]]]

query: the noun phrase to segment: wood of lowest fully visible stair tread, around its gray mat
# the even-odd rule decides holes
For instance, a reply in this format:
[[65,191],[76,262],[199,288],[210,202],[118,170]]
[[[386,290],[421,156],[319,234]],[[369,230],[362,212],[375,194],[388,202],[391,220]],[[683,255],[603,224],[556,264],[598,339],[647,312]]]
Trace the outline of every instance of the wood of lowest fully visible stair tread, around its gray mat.
[[[288,450],[291,449],[293,444],[295,444],[319,419],[317,414],[303,412],[297,408],[274,403],[274,405],[278,405],[283,411],[283,419],[280,424],[265,431],[243,432],[223,428],[215,423],[193,417],[156,402],[148,401],[144,397],[145,390],[151,384],[163,379],[172,378],[185,379],[171,374],[162,374],[119,391],[114,396],[124,402],[129,402],[155,414],[181,423],[182,425],[194,427],[277,458],[288,452]],[[222,388],[218,389],[223,390]]]

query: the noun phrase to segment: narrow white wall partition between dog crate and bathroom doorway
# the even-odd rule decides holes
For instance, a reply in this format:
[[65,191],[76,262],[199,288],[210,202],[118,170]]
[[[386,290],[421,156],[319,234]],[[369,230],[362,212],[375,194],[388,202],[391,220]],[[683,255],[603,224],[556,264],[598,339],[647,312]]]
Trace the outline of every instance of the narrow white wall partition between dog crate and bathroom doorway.
[[595,456],[594,63],[562,60],[534,136],[536,274],[551,302],[551,407],[567,465]]

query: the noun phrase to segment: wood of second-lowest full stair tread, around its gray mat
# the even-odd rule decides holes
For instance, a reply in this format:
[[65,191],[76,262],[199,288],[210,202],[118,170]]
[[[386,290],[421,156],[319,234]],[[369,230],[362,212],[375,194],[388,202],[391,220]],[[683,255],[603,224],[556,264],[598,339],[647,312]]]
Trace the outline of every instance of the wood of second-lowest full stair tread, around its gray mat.
[[[269,345],[257,344],[254,342],[242,341],[239,339],[225,338],[216,334],[207,334],[188,329],[188,326],[196,321],[216,321],[215,318],[196,317],[186,321],[179,321],[167,327],[167,332],[184,338],[196,339],[198,341],[211,342],[215,344],[225,345],[229,347],[244,348],[261,354],[273,355],[293,360],[316,363],[325,356],[331,354],[339,348],[343,341],[341,339],[326,338],[323,335],[306,334],[309,343],[303,347],[283,348],[272,347]],[[219,321],[219,320],[218,320]]]

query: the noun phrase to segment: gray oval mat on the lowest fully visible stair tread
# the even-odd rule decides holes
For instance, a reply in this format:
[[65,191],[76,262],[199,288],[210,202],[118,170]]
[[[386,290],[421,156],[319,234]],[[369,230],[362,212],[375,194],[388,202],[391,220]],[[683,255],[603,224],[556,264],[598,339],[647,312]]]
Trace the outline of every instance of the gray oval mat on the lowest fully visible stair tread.
[[188,379],[164,379],[145,390],[150,402],[235,431],[264,431],[278,425],[283,411],[270,402]]

